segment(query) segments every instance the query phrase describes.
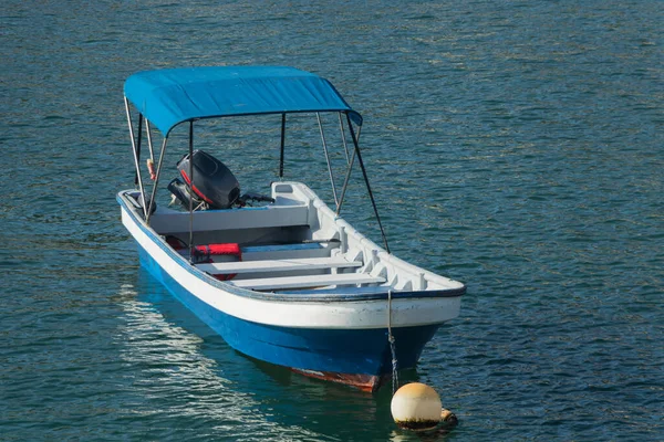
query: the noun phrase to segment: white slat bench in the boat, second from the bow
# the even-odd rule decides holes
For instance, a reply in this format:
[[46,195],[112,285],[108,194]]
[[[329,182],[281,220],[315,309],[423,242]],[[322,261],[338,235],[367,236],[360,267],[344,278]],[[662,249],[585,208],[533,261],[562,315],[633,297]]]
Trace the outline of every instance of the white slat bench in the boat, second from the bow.
[[293,257],[282,260],[239,261],[198,264],[197,267],[212,275],[242,274],[253,272],[308,271],[320,269],[360,267],[362,262],[347,261],[343,256]]

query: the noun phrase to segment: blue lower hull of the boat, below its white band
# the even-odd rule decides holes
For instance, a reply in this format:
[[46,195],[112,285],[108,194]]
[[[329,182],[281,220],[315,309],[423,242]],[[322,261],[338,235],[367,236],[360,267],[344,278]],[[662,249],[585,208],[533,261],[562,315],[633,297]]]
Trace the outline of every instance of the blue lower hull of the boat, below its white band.
[[[253,323],[211,307],[177,283],[138,245],[141,264],[236,350],[315,378],[375,390],[392,373],[387,328],[319,329]],[[439,324],[393,329],[400,369],[415,367]]]

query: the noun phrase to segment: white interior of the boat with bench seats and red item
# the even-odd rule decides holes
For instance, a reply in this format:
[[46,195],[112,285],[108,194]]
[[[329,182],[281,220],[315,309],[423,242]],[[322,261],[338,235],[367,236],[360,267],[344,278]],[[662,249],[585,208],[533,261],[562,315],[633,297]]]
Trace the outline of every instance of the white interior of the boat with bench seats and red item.
[[[129,198],[133,197],[133,198]],[[457,288],[384,252],[307,186],[274,182],[274,202],[188,211],[158,207],[149,227],[200,271],[237,287],[279,293],[385,293]],[[125,192],[141,214],[137,192]]]

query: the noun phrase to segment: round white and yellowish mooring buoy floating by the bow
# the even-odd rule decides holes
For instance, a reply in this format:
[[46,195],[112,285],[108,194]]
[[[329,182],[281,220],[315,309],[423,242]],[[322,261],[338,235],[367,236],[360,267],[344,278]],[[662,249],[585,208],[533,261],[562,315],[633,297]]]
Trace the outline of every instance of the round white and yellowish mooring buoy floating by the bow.
[[396,390],[390,409],[398,427],[424,431],[438,425],[443,404],[436,390],[424,383],[413,382]]

